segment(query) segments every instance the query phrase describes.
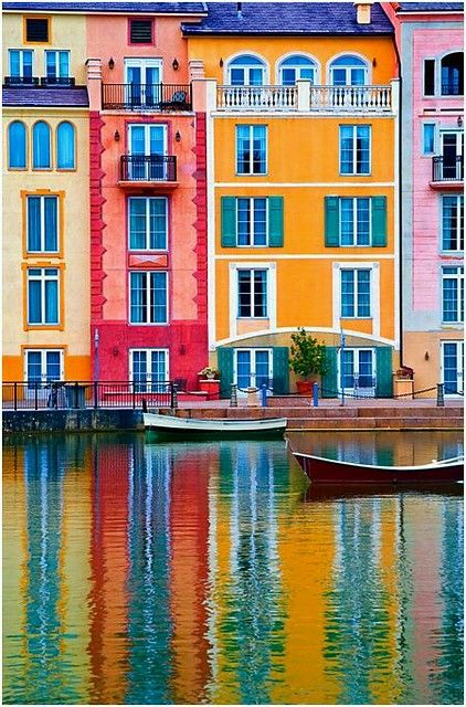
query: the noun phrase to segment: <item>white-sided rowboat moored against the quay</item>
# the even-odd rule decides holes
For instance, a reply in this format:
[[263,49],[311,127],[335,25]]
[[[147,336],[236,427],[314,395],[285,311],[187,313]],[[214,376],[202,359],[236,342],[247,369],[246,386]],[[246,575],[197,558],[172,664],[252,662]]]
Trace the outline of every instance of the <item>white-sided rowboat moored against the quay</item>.
[[261,420],[192,419],[144,413],[144,426],[158,436],[178,439],[269,439],[283,435],[286,429],[285,418],[264,418]]

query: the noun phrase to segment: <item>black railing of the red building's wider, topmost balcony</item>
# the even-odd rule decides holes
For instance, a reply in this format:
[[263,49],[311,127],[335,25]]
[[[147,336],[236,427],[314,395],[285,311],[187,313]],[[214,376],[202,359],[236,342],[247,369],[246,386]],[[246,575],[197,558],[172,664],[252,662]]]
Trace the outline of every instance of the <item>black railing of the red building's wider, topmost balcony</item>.
[[191,110],[191,84],[103,84],[107,110]]

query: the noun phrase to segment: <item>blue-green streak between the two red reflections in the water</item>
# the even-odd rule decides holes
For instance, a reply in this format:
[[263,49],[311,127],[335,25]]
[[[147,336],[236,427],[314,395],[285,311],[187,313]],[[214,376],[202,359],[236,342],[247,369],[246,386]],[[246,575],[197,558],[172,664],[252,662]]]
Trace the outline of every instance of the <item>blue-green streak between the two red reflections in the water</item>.
[[169,447],[135,440],[129,475],[128,689],[130,704],[170,703]]

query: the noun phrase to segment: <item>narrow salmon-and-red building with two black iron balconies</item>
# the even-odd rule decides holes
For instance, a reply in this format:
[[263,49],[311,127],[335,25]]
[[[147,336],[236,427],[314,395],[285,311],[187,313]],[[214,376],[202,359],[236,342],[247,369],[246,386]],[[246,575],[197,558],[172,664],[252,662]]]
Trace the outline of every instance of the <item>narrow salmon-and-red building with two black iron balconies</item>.
[[181,23],[204,8],[86,12],[94,374],[194,387],[208,357],[205,113]]

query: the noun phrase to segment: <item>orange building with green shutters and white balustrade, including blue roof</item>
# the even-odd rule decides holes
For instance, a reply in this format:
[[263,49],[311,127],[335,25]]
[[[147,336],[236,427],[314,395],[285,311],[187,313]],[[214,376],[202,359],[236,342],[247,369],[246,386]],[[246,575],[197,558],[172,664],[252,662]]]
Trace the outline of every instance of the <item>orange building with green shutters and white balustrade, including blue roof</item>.
[[183,25],[208,86],[209,345],[223,395],[267,380],[288,392],[297,327],[327,347],[325,395],[392,392],[395,50],[383,10],[354,6],[213,3]]

